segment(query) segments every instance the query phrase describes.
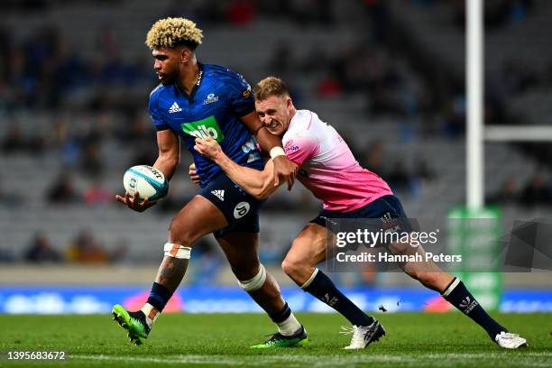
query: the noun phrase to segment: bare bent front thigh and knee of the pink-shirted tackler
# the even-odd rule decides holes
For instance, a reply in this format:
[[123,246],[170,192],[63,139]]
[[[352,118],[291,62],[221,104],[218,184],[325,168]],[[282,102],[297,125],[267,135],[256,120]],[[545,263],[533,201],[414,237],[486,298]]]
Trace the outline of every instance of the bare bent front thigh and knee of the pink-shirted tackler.
[[284,263],[316,266],[326,260],[326,227],[309,223],[291,244]]

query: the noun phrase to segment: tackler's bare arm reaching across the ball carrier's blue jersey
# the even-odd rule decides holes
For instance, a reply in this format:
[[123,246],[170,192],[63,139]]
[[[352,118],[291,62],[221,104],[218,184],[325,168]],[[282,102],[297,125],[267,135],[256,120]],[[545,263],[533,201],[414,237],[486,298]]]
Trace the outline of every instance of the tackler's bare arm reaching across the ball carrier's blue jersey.
[[[255,170],[241,166],[232,161],[220,145],[212,138],[196,139],[195,150],[215,161],[226,175],[237,185],[242,187],[248,194],[257,199],[268,198],[278,187],[274,186],[274,163],[272,160],[266,162],[264,170]],[[193,179],[195,170],[190,166],[189,175]],[[280,185],[284,182],[281,181]]]

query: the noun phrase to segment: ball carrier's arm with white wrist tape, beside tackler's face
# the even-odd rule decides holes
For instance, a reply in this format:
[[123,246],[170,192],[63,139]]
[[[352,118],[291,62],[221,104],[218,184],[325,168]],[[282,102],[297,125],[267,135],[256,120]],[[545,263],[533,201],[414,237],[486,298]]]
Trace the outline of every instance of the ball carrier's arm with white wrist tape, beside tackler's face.
[[286,157],[281,145],[281,138],[271,134],[261,123],[259,116],[254,111],[248,115],[242,116],[240,120],[253,134],[255,134],[262,151],[270,152],[271,159],[274,162],[274,187],[278,188],[281,185],[281,179],[283,179],[284,182],[288,183],[288,189],[291,189],[297,177],[298,167]]

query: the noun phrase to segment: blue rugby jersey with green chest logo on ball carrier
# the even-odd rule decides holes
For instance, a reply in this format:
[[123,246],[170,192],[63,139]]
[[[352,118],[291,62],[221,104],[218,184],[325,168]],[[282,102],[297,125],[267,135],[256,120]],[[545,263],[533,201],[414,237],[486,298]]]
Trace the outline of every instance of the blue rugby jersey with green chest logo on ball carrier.
[[239,119],[255,109],[251,87],[244,77],[225,67],[200,63],[198,67],[198,83],[190,96],[176,84],[153,89],[149,112],[155,127],[171,129],[184,140],[194,157],[201,188],[221,169],[194,150],[196,137],[211,136],[230,159],[262,170],[255,137]]

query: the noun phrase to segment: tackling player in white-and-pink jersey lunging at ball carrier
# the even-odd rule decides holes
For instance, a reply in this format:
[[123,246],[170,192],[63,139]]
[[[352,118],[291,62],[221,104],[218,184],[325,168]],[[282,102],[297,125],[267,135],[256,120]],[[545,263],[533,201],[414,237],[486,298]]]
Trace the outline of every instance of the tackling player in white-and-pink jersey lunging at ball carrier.
[[[324,209],[311,220],[293,241],[281,266],[303,290],[335,308],[353,325],[348,349],[358,349],[385,335],[385,330],[373,317],[347,299],[334,283],[317,269],[327,257],[327,218],[399,219],[405,224],[406,215],[398,198],[392,195],[387,183],[354,159],[347,144],[330,125],[308,110],[296,110],[288,88],[279,78],[265,78],[254,88],[255,108],[262,123],[275,135],[282,137],[290,161],[299,165],[298,179],[317,198]],[[276,189],[272,184],[273,164],[267,161],[259,173],[230,160],[216,141],[196,140],[195,149],[215,161],[230,179],[255,198],[267,198]],[[194,169],[190,167],[194,179]],[[409,232],[407,225],[401,231]],[[409,244],[388,244],[391,252],[424,254],[421,247]],[[426,259],[421,257],[421,259]],[[455,308],[471,317],[489,334],[492,341],[504,348],[518,348],[527,341],[511,334],[490,317],[462,281],[441,271],[431,260],[400,264],[410,277],[436,290]]]

